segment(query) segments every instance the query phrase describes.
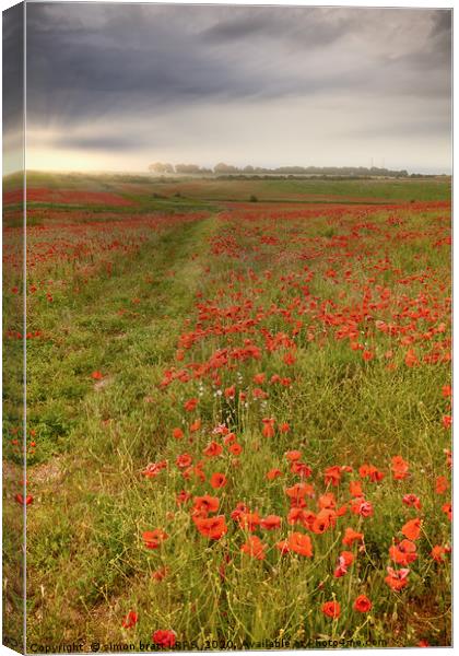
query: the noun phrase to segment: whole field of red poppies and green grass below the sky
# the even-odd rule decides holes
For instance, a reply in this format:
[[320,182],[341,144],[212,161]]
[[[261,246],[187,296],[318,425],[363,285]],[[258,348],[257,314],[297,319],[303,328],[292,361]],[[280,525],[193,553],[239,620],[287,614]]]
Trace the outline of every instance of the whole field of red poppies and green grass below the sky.
[[32,651],[450,645],[449,180],[30,184],[9,635],[25,507]]

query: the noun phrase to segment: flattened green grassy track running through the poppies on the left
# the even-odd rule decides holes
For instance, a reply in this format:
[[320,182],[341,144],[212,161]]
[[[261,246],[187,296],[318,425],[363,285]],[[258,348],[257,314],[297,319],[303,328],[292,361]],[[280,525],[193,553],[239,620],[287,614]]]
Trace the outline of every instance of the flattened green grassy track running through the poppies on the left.
[[[97,296],[92,297],[91,306],[85,306],[82,312],[82,306],[79,304],[68,312],[63,321],[60,323],[60,330],[63,333],[70,329],[78,330],[79,327],[86,326],[90,319],[98,316],[101,331],[95,330],[94,335],[95,339],[101,340],[103,349],[99,353],[101,360],[110,370],[116,370],[117,365],[119,370],[129,368],[133,374],[133,387],[136,387],[134,372],[137,368],[154,370],[157,366],[162,370],[167,365],[168,353],[174,353],[178,329],[181,326],[181,319],[177,313],[180,311],[183,316],[187,305],[193,303],[193,294],[205,262],[203,245],[214,230],[215,218],[211,215],[201,221],[191,222],[185,226],[176,225],[172,230],[165,231],[157,239],[144,245],[138,257],[129,260],[129,266],[119,270],[119,276],[108,278],[97,285]],[[195,257],[196,254],[198,254],[197,257]],[[152,261],[154,268],[150,268]],[[129,326],[128,323],[121,335],[114,332],[104,336],[102,325],[105,308],[119,305],[125,290],[136,289],[145,271],[151,271],[156,283],[153,283],[151,293],[145,294],[145,297],[142,298],[141,312],[136,313],[132,325]],[[121,291],[120,279],[122,279]],[[92,295],[92,291],[90,293]],[[156,343],[161,343],[156,362],[152,362],[150,351],[139,348],[140,342],[151,340],[152,336]],[[87,344],[89,351],[92,345]],[[116,359],[113,358],[114,353],[116,353]],[[81,350],[79,356],[82,361],[86,358]],[[126,366],[127,360],[131,360],[128,367]],[[30,367],[33,368],[35,363],[36,360],[33,355],[30,359]],[[67,371],[66,375],[69,374],[71,373]],[[87,531],[92,532],[86,512],[91,500],[95,495],[106,493],[107,481],[108,487],[116,490],[116,484],[115,488],[113,485],[115,475],[113,467],[107,469],[107,464],[101,460],[96,453],[86,450],[87,441],[81,448],[82,435],[87,434],[87,426],[94,425],[95,421],[97,426],[99,425],[99,421],[94,414],[107,412],[104,400],[107,395],[111,397],[108,401],[111,413],[113,406],[117,406],[118,399],[121,398],[125,403],[128,402],[133,408],[141,405],[150,410],[154,407],[154,401],[152,402],[150,399],[145,400],[142,397],[134,400],[137,390],[129,390],[128,387],[129,384],[127,385],[126,380],[119,382],[116,374],[106,378],[103,385],[94,382],[93,388],[81,399],[74,401],[72,415],[80,419],[73,422],[69,435],[60,441],[58,448],[58,452],[61,452],[60,455],[55,454],[51,446],[48,457],[27,468],[30,490],[34,493],[34,514],[30,514],[27,520],[28,552],[31,554],[27,561],[27,596],[34,609],[28,616],[31,640],[36,635],[35,628],[37,625],[42,626],[38,631],[42,639],[49,635],[50,628],[46,621],[50,610],[47,582],[52,581],[52,585],[58,586],[55,588],[56,593],[61,590],[64,594],[63,588],[59,587],[64,585],[61,576],[70,577],[74,573],[72,563],[76,552],[73,549],[61,551],[62,544],[59,540],[62,538],[62,529],[58,528],[60,523],[63,522],[69,528],[68,537],[76,538],[79,536],[78,541],[81,538],[84,540]],[[129,400],[127,401],[127,399]],[[108,435],[107,437],[110,440],[110,432]],[[17,468],[15,471],[19,477],[20,469]],[[126,476],[126,471],[122,475]],[[20,489],[19,479],[9,488],[11,499],[17,489]],[[56,538],[56,532],[58,538]],[[55,535],[55,538],[50,538],[50,535]],[[45,553],[46,563],[42,560]],[[69,558],[69,562],[64,563],[67,558]],[[14,555],[11,561],[14,566]],[[45,576],[44,569],[48,572]],[[87,582],[87,585],[91,583]],[[14,602],[10,604],[7,613],[15,616],[21,611],[19,595],[15,600],[16,606]],[[76,620],[79,630],[81,629],[82,635],[85,635],[85,618],[76,598],[72,598],[72,602],[69,602],[66,608],[61,608],[59,599],[52,596],[52,604],[57,604],[57,606],[51,611],[51,616],[57,613],[56,617],[59,617],[59,623],[61,622],[60,640],[66,640],[70,633],[74,635],[72,628]],[[9,625],[14,622],[12,617],[7,617],[5,621]]]

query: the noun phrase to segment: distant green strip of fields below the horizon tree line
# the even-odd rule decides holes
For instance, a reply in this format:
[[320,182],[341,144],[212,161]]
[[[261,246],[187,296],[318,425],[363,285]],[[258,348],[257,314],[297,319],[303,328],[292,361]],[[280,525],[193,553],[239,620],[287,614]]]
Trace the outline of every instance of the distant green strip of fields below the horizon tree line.
[[[17,185],[17,178],[7,179],[4,190]],[[63,190],[84,190],[92,194],[121,195],[127,200],[140,202],[161,201],[160,197],[175,202],[193,201],[245,201],[256,196],[259,201],[294,202],[399,202],[450,200],[450,178],[426,179],[372,179],[372,180],[325,180],[325,179],[247,179],[222,180],[212,178],[158,178],[141,176],[97,176],[39,174],[27,175],[31,201],[36,189],[46,187],[61,195]],[[156,195],[156,198],[154,197]],[[7,194],[7,202],[9,202]],[[46,199],[42,199],[43,202]],[[78,199],[76,199],[78,200]],[[109,204],[109,203],[108,203]]]

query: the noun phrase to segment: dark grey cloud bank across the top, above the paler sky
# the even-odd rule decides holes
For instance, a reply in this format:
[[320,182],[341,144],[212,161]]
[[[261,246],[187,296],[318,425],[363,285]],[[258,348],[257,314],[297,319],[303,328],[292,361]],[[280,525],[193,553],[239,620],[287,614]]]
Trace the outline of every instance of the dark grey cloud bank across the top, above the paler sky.
[[[35,121],[51,127],[205,99],[346,90],[447,95],[450,12],[429,12],[431,34],[422,44],[405,21],[404,50],[386,47],[388,57],[378,45],[398,27],[400,12],[30,4],[28,106]],[[338,57],[342,48],[345,60],[343,42],[366,28],[375,31],[375,25],[379,44],[361,46],[358,66],[351,62],[343,69],[339,59],[338,66],[327,60],[330,46]],[[320,49],[323,62],[318,69],[309,57]]]

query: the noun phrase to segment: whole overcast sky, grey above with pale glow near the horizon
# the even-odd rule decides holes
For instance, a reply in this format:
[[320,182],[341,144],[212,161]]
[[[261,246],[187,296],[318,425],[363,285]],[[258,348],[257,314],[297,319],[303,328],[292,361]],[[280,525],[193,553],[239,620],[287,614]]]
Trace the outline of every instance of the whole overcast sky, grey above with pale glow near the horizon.
[[27,4],[27,167],[223,161],[448,173],[450,16]]

